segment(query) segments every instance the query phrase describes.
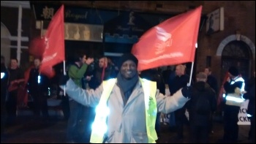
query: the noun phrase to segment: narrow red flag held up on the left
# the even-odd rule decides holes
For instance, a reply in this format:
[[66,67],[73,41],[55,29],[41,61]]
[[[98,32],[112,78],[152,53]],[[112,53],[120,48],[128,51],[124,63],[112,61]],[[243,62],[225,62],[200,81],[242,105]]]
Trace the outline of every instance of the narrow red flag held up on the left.
[[[53,15],[45,34],[45,52],[42,55],[40,72],[48,74],[53,72],[55,64],[64,61],[64,5]],[[52,77],[48,75],[48,77]]]

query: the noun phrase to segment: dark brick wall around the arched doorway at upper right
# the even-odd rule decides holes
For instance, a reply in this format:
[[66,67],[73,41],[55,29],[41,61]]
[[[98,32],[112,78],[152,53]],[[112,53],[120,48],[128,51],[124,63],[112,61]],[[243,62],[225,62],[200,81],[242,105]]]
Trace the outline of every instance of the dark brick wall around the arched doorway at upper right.
[[[241,35],[248,37],[255,45],[255,1],[205,1],[203,14],[224,7],[225,29],[217,33],[206,35],[206,25],[203,26],[198,37],[196,70],[200,71],[206,67],[206,56],[211,56],[211,67],[213,74],[217,76],[220,83],[221,56],[217,56],[217,48],[223,39],[240,31]],[[252,53],[252,72],[255,69],[255,53]]]

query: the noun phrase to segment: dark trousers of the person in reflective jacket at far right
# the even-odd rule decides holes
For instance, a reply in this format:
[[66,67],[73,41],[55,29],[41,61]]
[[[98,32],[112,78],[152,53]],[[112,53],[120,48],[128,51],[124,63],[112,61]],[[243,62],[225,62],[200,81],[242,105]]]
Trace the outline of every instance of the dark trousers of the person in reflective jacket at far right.
[[224,136],[228,143],[236,143],[238,140],[238,113],[240,107],[225,105],[224,110]]

